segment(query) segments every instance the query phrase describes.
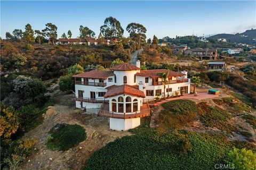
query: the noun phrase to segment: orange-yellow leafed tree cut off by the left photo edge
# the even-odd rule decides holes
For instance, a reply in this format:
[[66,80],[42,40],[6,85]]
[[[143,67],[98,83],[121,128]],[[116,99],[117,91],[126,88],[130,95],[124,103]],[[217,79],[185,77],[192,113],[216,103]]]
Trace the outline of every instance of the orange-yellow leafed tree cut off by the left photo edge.
[[[7,107],[2,102],[0,102],[0,106],[1,106],[0,137],[4,139],[8,139],[19,128],[18,117],[15,115],[13,107]],[[2,147],[1,147],[1,150],[2,150]]]

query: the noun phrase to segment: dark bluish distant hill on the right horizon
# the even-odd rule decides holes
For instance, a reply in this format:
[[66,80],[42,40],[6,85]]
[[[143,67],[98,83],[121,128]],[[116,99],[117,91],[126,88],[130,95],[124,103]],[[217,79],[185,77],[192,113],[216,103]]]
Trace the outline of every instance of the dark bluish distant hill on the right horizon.
[[254,30],[246,30],[243,33],[228,34],[228,33],[220,33],[214,36],[209,37],[211,39],[218,38],[226,38],[230,43],[245,43],[256,45],[256,29]]

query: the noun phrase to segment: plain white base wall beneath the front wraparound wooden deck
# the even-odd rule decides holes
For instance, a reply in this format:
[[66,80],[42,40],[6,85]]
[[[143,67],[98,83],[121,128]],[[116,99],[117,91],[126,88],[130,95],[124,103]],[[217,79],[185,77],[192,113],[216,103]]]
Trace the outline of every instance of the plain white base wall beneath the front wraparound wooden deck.
[[129,118],[129,119],[109,118],[109,126],[110,126],[110,129],[112,130],[126,131],[129,129],[136,128],[139,125],[140,125],[140,117]]

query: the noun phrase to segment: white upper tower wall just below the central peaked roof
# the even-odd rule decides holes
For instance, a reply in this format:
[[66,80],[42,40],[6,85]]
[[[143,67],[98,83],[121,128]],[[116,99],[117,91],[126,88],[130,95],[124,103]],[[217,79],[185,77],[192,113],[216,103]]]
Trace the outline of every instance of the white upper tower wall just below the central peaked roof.
[[127,77],[127,83],[129,85],[135,85],[137,82],[134,83],[134,74],[136,74],[138,71],[114,71],[114,74],[116,74],[116,83],[115,85],[120,86],[124,84],[124,76]]

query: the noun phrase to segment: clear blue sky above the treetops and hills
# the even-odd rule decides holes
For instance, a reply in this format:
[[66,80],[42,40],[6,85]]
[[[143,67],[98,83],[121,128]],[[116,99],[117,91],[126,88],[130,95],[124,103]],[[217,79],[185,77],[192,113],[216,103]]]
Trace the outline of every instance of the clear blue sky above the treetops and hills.
[[[256,27],[256,1],[2,1],[1,37],[30,23],[42,30],[46,23],[58,27],[58,37],[68,30],[79,36],[79,25],[98,37],[100,26],[113,16],[125,30],[136,22],[147,38],[217,33],[237,33]],[[129,36],[125,30],[124,36]]]

